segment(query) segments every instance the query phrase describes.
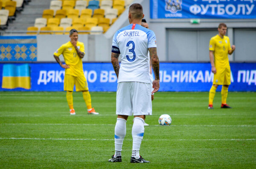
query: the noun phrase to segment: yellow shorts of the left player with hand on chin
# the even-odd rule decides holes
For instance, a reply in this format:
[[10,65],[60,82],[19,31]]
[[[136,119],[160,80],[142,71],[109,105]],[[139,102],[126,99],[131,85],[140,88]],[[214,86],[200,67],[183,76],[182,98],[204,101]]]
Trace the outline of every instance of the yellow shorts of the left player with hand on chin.
[[74,85],[76,85],[76,92],[88,91],[88,84],[84,76],[72,76],[65,74],[64,77],[64,91],[73,91]]

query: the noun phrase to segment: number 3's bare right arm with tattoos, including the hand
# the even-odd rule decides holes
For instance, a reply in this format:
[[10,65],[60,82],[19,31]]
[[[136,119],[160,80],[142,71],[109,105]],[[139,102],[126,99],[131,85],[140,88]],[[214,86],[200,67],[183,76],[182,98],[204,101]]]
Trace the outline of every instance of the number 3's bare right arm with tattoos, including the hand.
[[151,59],[151,64],[152,68],[154,71],[154,76],[155,80],[152,82],[153,83],[153,93],[157,92],[159,90],[160,84],[159,84],[159,59],[157,56],[157,48],[148,48],[150,59]]

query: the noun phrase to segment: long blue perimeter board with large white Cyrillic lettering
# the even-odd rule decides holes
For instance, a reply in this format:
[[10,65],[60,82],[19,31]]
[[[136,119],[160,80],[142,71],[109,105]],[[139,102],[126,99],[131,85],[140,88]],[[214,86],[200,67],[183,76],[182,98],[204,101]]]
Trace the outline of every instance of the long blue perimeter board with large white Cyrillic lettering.
[[[3,89],[3,65],[0,64],[0,91],[63,91],[65,71],[57,63],[29,63],[30,89]],[[83,66],[90,91],[116,91],[117,78],[111,63],[83,63]],[[256,63],[230,63],[230,67],[229,91],[256,92]],[[212,81],[210,63],[160,63],[161,92],[208,92]],[[220,90],[221,87],[217,89]]]

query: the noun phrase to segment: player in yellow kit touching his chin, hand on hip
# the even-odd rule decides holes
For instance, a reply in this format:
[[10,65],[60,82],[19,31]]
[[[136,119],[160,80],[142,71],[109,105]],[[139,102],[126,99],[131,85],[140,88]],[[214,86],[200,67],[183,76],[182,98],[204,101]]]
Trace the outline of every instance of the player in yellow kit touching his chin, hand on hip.
[[[62,64],[59,56],[63,55],[65,64]],[[67,91],[67,104],[70,107],[70,115],[76,115],[73,107],[73,89],[82,91],[89,115],[99,115],[91,105],[91,97],[88,91],[87,80],[84,77],[82,58],[84,57],[84,43],[78,41],[76,29],[70,30],[70,41],[63,44],[54,54],[55,60],[65,69],[64,91]]]

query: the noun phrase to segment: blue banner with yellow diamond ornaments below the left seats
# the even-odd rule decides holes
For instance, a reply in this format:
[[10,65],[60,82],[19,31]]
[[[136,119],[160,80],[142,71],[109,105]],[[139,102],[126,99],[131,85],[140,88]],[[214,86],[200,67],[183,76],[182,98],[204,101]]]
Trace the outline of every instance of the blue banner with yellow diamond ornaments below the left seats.
[[0,61],[37,61],[36,36],[0,36]]

